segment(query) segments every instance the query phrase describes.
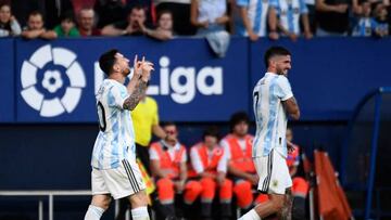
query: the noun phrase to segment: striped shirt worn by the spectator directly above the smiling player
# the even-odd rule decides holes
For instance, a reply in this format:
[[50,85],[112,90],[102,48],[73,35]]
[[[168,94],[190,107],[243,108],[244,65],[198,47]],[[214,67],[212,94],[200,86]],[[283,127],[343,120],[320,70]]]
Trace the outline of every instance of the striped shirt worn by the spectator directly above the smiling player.
[[289,33],[300,35],[300,14],[307,14],[304,0],[276,0],[270,2],[277,11],[280,24]]

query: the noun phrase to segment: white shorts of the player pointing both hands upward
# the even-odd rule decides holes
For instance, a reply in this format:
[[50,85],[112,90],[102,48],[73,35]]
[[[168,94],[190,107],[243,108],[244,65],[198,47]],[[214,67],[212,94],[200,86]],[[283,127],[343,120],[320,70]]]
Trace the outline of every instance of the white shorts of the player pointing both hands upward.
[[114,199],[127,197],[146,189],[136,161],[122,160],[115,169],[91,171],[92,195],[111,194]]

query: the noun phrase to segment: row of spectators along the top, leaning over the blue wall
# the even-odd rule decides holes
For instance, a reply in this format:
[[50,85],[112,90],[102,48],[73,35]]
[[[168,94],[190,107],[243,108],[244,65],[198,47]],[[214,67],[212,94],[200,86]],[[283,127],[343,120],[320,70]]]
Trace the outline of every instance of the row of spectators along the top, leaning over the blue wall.
[[0,0],[0,37],[195,36],[224,56],[232,35],[386,37],[390,9],[389,0]]

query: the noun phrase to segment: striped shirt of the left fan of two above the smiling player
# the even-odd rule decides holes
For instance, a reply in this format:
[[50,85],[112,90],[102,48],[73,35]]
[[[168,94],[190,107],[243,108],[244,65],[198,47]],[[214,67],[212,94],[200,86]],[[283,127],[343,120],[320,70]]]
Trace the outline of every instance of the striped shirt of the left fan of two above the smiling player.
[[[237,0],[237,5],[245,8],[248,17],[250,20],[253,31],[260,37],[266,36],[267,29],[267,11],[269,3],[276,0]],[[240,18],[240,13],[235,20],[236,31],[240,36],[249,36],[245,30],[243,21]]]

